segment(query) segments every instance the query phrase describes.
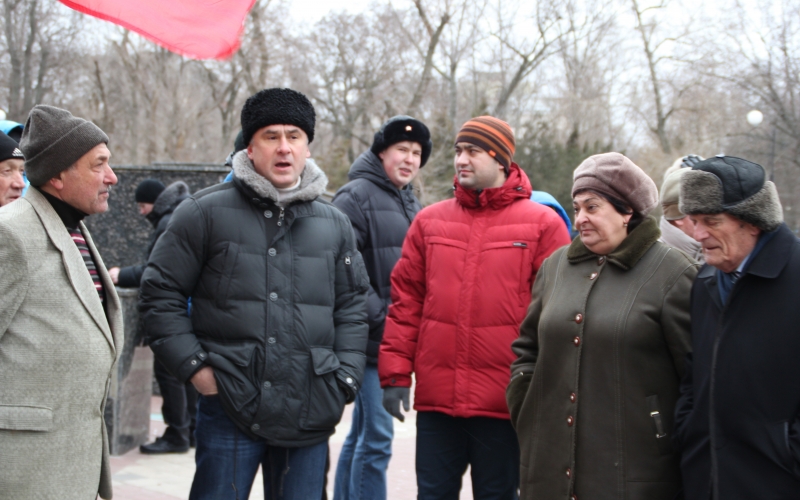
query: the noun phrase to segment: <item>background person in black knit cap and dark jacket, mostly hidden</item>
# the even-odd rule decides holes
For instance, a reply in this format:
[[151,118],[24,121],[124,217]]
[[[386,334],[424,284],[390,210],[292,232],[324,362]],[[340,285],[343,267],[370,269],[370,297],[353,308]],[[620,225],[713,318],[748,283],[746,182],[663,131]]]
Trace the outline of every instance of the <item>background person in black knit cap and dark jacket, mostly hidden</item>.
[[[147,257],[153,252],[158,238],[167,230],[172,212],[183,200],[191,195],[185,182],[173,182],[164,187],[156,179],[145,179],[136,187],[135,199],[139,213],[153,225]],[[115,285],[125,288],[138,288],[146,264],[108,270]],[[145,339],[145,343],[147,339]],[[139,451],[148,455],[162,453],[185,453],[194,446],[194,428],[197,413],[197,390],[190,383],[181,382],[172,376],[162,363],[155,360],[153,373],[161,393],[161,414],[167,428],[154,442],[139,446]]]

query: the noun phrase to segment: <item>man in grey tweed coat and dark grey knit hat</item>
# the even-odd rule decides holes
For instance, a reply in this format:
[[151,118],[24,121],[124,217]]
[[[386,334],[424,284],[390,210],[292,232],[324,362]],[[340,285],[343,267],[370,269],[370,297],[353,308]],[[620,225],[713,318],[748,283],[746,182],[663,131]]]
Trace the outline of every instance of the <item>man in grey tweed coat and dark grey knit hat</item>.
[[122,314],[82,219],[108,210],[108,137],[36,106],[20,149],[32,189],[0,208],[0,496],[111,498],[106,393]]

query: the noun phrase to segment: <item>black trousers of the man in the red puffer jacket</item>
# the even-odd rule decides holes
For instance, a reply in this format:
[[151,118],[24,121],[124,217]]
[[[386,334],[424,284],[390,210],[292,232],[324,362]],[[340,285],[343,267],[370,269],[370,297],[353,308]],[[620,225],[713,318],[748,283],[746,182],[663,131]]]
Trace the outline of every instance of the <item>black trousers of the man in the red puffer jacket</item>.
[[458,500],[467,465],[475,500],[519,498],[519,443],[510,421],[417,412],[417,499]]

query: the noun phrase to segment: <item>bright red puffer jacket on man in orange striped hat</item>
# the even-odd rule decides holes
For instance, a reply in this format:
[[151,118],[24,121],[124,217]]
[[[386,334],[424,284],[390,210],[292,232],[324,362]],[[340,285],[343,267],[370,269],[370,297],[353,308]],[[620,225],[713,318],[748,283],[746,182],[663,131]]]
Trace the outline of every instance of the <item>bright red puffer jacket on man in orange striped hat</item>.
[[530,201],[517,164],[502,187],[423,209],[392,272],[392,305],[378,358],[381,386],[411,386],[414,408],[509,418],[511,342],[539,266],[570,243],[551,208]]

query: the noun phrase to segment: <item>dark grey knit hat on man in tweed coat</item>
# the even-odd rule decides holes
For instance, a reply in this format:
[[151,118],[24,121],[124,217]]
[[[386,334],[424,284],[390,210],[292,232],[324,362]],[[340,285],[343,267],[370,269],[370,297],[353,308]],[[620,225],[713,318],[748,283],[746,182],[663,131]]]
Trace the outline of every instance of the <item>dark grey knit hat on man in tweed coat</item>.
[[100,143],[108,144],[108,136],[94,123],[39,104],[28,115],[19,142],[25,175],[31,185],[41,186]]

